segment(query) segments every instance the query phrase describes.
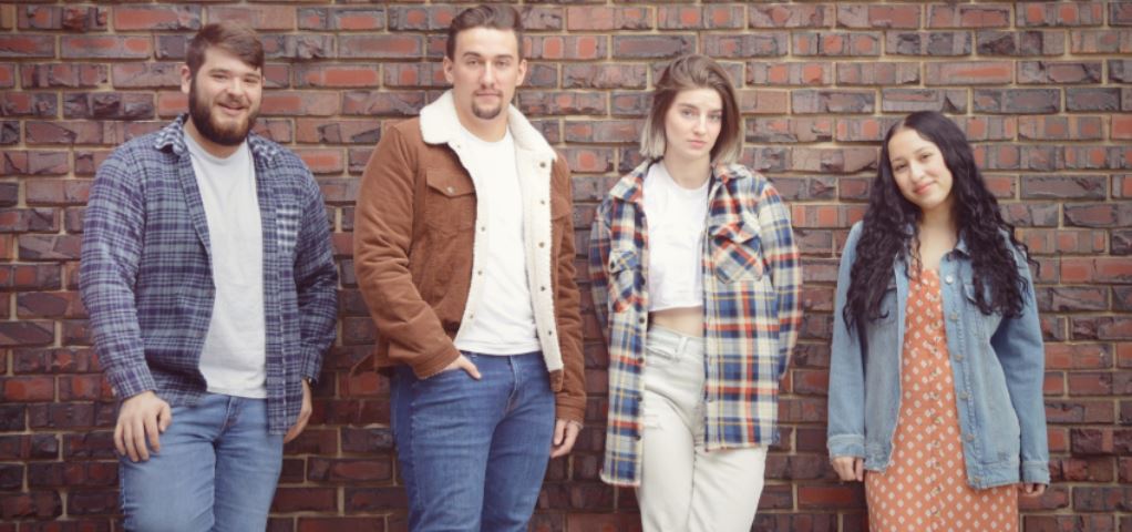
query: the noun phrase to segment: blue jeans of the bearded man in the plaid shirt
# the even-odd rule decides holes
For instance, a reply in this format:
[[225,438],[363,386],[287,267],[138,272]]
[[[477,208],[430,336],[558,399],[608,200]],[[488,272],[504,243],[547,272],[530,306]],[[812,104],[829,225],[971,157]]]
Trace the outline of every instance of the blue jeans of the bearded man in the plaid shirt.
[[206,394],[196,406],[173,406],[160,453],[119,460],[126,530],[264,530],[283,469],[283,436],[267,434],[266,403]]

